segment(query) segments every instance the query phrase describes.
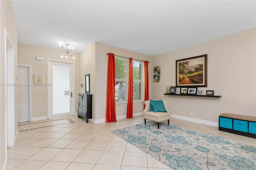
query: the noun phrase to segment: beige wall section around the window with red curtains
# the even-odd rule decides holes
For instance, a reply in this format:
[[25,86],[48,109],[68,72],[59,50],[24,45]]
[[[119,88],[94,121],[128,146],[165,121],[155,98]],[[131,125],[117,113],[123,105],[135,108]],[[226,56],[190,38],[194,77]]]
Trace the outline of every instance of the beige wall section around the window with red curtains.
[[[107,89],[107,68],[108,68],[108,55],[107,53],[114,53],[123,57],[132,57],[132,59],[148,60],[148,67],[152,67],[151,58],[148,55],[128,51],[126,49],[120,49],[111,45],[96,42],[96,92],[95,96],[95,118],[96,120],[106,119],[106,89]],[[149,82],[152,81],[152,73],[149,73]],[[151,90],[151,84],[149,84]],[[138,102],[133,104],[133,113],[142,113],[144,103]],[[116,116],[126,117],[127,104],[116,104]]]

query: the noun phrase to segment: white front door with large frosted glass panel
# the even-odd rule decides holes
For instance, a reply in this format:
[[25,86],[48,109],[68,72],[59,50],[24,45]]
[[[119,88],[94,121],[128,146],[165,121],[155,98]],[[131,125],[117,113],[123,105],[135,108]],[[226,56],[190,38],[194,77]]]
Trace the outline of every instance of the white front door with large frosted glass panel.
[[74,110],[74,63],[48,59],[48,117],[64,117]]

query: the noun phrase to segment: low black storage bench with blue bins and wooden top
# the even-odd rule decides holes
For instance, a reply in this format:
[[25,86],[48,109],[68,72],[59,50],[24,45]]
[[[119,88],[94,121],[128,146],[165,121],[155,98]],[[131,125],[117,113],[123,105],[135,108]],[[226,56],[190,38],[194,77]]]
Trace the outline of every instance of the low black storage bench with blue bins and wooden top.
[[219,130],[256,138],[256,117],[222,113]]

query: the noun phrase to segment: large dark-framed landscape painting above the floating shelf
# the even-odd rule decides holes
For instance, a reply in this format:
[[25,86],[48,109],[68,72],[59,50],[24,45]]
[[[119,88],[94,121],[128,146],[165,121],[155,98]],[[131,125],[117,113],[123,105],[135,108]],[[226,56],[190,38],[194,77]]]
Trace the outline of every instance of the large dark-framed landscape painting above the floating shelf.
[[176,60],[176,87],[207,87],[207,54]]

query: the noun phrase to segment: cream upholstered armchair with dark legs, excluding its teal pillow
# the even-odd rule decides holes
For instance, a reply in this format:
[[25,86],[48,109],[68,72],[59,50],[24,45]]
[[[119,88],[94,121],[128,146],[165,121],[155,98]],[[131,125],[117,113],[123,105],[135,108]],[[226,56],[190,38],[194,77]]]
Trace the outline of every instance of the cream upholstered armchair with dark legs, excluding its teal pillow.
[[168,126],[169,126],[169,121],[170,121],[170,117],[171,117],[171,112],[168,109],[168,102],[167,101],[163,101],[164,104],[164,108],[166,109],[166,112],[154,112],[154,111],[150,111],[150,101],[144,101],[145,104],[145,109],[143,111],[143,118],[145,121],[145,125],[146,125],[146,119],[150,119],[152,121],[157,122],[158,125],[158,129],[159,129],[159,122],[168,121]]

